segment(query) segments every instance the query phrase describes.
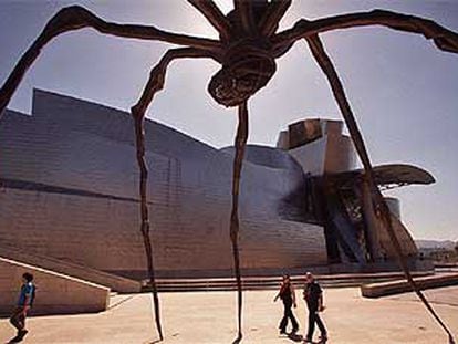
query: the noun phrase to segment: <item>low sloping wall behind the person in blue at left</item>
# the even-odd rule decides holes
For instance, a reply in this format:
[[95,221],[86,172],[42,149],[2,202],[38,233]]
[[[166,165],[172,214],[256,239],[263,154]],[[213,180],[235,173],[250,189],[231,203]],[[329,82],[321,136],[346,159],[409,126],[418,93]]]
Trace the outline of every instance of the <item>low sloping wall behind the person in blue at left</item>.
[[0,257],[0,314],[15,306],[24,272],[34,277],[37,299],[31,314],[71,314],[105,311],[110,289]]

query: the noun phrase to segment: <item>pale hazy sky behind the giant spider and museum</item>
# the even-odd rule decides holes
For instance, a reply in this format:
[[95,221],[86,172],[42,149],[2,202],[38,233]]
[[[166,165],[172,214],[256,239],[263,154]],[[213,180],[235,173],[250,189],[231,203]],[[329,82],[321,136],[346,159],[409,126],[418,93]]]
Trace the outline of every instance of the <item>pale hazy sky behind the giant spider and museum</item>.
[[[230,0],[217,0],[223,12]],[[82,4],[100,17],[154,24],[217,38],[185,0],[0,0],[0,83],[53,13]],[[458,31],[456,0],[296,0],[280,30],[300,18],[389,9],[436,20]],[[340,73],[374,165],[414,164],[437,183],[389,191],[402,200],[402,218],[416,239],[458,240],[458,54],[439,51],[421,35],[385,28],[356,28],[322,35]],[[149,70],[174,45],[106,37],[90,29],[49,44],[22,81],[10,108],[30,113],[32,88],[127,111]],[[165,90],[147,116],[215,147],[232,144],[237,116],[207,93],[219,66],[207,60],[175,62]],[[278,60],[269,85],[250,101],[250,144],[274,146],[288,124],[310,117],[341,118],[327,82],[306,44],[298,42]]]

